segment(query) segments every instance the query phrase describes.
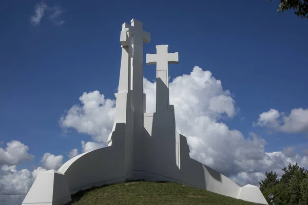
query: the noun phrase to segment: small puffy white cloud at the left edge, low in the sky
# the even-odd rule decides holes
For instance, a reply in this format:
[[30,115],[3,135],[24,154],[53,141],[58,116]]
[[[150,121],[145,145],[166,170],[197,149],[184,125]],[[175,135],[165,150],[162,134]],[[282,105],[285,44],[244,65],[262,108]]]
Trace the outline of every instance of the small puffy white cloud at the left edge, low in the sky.
[[19,165],[23,161],[31,161],[34,156],[28,154],[28,146],[20,141],[10,141],[5,149],[0,148],[0,166],[1,165]]

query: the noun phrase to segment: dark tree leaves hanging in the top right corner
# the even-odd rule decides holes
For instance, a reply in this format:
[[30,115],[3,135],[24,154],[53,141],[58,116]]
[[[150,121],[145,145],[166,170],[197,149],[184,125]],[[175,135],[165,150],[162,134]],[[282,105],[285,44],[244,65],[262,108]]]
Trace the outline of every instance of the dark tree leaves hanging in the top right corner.
[[289,9],[294,9],[299,17],[308,18],[308,0],[280,0],[278,13]]

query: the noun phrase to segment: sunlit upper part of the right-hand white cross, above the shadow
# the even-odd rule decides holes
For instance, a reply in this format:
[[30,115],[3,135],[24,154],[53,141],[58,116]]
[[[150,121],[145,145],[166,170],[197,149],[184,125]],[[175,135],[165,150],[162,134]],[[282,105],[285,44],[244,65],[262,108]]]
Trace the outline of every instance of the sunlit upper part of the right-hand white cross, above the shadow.
[[168,64],[178,64],[179,53],[168,53],[168,45],[156,46],[156,54],[146,54],[146,64],[156,64],[156,77],[161,78],[167,88],[168,84]]

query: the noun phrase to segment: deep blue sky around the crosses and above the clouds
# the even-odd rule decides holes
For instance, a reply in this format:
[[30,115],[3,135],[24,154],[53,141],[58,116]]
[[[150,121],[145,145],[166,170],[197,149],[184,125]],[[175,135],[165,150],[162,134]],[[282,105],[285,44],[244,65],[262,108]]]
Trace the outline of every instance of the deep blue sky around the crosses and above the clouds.
[[[262,136],[266,152],[294,146],[308,149],[307,132],[286,134],[253,126],[259,114],[273,108],[290,114],[307,109],[308,20],[293,11],[277,14],[279,1],[45,1],[65,10],[56,25],[30,16],[39,1],[0,4],[0,140],[21,141],[35,156],[19,169],[38,166],[44,153],[63,155],[90,136],[71,129],[64,134],[60,117],[84,92],[99,90],[114,98],[119,80],[120,31],[131,18],[151,33],[144,53],[156,45],[179,52],[172,78],[194,66],[222,81],[236,101],[237,115],[222,120],[229,129]],[[144,57],[145,59],[145,57]],[[155,67],[144,66],[155,78]],[[243,120],[244,118],[244,120]]]

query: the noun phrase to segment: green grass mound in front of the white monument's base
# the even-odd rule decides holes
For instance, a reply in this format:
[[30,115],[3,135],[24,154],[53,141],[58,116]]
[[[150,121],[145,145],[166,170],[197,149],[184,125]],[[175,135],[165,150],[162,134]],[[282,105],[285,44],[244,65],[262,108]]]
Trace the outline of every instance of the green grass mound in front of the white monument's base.
[[73,205],[92,204],[228,204],[253,205],[213,192],[170,182],[132,181],[107,185],[72,195]]

